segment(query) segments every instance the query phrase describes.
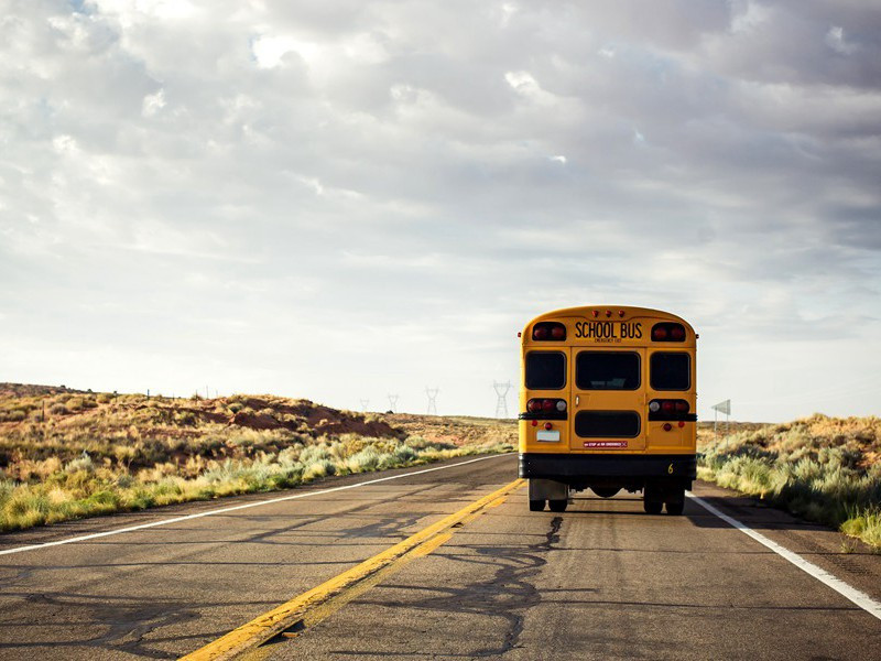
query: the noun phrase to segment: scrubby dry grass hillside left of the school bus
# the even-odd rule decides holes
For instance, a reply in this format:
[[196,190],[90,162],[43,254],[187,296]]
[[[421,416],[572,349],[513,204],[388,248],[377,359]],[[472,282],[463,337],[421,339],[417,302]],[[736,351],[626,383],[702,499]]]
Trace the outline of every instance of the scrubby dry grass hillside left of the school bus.
[[510,422],[444,419],[415,435],[417,416],[396,418],[270,395],[146,400],[0,384],[0,530],[510,452],[516,435]]

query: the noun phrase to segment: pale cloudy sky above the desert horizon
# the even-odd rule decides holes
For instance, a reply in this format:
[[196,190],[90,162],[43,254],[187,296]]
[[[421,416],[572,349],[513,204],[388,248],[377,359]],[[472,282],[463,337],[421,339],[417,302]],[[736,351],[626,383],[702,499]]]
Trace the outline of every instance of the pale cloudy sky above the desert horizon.
[[881,414],[879,0],[0,0],[0,381],[492,415],[532,317]]

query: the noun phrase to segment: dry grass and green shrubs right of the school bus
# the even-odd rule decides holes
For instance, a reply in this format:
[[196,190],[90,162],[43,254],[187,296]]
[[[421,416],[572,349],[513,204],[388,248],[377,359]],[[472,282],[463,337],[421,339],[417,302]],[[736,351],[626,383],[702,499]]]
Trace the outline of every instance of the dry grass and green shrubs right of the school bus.
[[698,477],[839,528],[881,550],[881,420],[815,414],[714,438]]

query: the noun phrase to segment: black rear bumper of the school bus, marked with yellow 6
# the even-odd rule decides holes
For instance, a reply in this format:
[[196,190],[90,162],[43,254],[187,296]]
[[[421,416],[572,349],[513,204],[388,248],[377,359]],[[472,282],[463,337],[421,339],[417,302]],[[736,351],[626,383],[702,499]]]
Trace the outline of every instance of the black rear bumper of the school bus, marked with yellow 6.
[[654,479],[697,478],[695,455],[600,455],[521,453],[520,477],[553,479],[572,486],[641,484]]

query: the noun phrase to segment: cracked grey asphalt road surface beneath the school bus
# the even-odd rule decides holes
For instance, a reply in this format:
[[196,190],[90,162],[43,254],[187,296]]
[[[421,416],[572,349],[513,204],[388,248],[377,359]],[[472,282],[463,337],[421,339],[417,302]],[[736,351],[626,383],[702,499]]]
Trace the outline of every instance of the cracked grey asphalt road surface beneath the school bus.
[[[186,654],[511,483],[515,466],[350,476],[289,494],[305,498],[0,555],[0,658]],[[695,494],[881,600],[881,555],[713,486]],[[0,551],[279,496],[4,534]],[[693,500],[682,517],[648,516],[630,495],[539,513],[520,488],[496,505],[247,657],[881,659],[881,620]]]

